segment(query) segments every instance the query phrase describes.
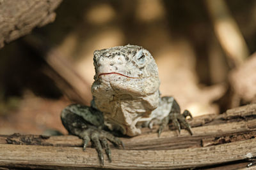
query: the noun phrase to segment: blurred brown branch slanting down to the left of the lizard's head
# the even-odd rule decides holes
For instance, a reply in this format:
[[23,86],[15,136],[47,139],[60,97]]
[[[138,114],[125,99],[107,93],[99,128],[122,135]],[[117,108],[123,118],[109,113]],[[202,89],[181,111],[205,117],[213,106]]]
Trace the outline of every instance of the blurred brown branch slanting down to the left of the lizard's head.
[[56,83],[63,94],[75,103],[90,104],[92,100],[90,84],[77,73],[61,52],[38,36],[26,36],[22,40],[45,60],[49,67],[44,73]]

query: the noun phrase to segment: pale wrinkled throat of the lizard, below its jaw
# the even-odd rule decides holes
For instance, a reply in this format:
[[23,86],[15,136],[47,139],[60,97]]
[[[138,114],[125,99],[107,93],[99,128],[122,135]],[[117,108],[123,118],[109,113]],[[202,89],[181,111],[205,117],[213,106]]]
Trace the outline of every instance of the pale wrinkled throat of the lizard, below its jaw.
[[104,114],[104,124],[111,130],[119,130],[128,136],[141,133],[136,127],[141,118],[149,118],[159,104],[159,91],[148,96],[129,94],[113,95],[98,100],[94,97],[97,108]]

